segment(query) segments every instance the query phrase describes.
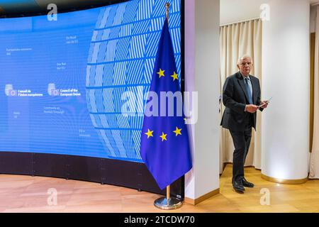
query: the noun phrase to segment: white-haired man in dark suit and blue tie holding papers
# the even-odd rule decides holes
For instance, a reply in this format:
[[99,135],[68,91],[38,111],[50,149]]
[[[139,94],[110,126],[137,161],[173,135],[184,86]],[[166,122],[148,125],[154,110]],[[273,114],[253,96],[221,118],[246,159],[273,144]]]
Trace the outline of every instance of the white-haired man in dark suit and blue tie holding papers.
[[223,104],[226,108],[221,126],[228,128],[233,138],[233,188],[239,193],[243,193],[245,187],[254,187],[245,179],[244,165],[252,128],[256,130],[257,110],[263,111],[268,106],[268,101],[260,100],[259,79],[250,75],[252,66],[252,57],[240,57],[237,62],[239,72],[228,77],[223,87]]

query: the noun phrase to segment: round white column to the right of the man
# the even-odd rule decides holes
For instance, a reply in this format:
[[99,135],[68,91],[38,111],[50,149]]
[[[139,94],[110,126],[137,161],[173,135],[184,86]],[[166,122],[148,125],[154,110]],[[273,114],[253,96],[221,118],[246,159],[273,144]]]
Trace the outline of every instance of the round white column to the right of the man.
[[272,9],[262,34],[262,96],[273,96],[262,117],[262,174],[308,177],[308,0],[266,0]]

